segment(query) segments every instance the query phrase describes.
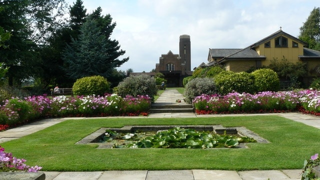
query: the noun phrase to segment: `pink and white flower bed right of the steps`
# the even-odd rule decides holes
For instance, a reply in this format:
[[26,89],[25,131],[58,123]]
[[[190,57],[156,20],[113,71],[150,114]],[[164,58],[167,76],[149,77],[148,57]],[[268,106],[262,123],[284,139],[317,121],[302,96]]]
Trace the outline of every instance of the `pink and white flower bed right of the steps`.
[[197,114],[300,110],[316,115],[320,114],[320,91],[265,91],[256,94],[232,92],[225,96],[202,94],[193,99],[193,105]]

